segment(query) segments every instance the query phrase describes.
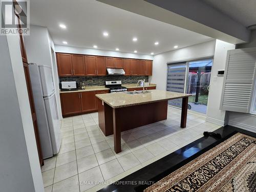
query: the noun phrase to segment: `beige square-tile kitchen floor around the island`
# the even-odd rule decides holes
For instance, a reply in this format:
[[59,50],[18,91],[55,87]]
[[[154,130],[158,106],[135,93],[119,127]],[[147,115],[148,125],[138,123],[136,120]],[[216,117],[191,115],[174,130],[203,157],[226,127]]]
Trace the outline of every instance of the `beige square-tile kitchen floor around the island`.
[[41,168],[45,191],[97,191],[220,127],[188,113],[182,129],[180,113],[168,106],[166,120],[122,132],[119,154],[113,135],[105,137],[99,129],[97,113],[64,118],[59,154]]

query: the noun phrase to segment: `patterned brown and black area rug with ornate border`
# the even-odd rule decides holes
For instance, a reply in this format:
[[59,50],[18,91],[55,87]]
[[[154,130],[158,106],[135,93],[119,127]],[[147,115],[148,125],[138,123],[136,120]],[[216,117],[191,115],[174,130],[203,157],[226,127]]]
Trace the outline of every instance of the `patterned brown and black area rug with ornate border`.
[[256,191],[256,138],[237,133],[144,190],[149,191]]

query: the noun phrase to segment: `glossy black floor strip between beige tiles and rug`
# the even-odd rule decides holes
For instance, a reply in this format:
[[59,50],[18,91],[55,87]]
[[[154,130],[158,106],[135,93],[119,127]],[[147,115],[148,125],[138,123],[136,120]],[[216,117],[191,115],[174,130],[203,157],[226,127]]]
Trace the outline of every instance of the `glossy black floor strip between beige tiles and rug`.
[[[189,161],[197,158],[204,152],[210,150],[210,148],[218,145],[222,141],[228,139],[236,133],[244,133],[252,137],[256,137],[256,133],[248,132],[237,127],[226,125],[220,129],[214,131],[214,133],[219,133],[222,139],[216,139],[213,137],[202,137],[188,145],[180,148],[172,154],[169,154],[154,163],[147,165],[137,172],[124,177],[123,179],[116,182],[116,184],[111,184],[101,190],[100,192],[106,191],[143,191],[149,185],[143,184],[143,182],[151,183],[157,182],[163,177],[169,175],[174,170],[180,168]],[[123,183],[127,184],[123,184]]]

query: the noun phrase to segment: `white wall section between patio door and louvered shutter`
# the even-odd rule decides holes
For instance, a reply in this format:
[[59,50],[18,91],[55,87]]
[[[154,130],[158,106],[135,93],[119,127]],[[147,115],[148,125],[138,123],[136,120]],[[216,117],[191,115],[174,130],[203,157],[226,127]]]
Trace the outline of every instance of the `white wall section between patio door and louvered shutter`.
[[221,40],[216,40],[214,63],[211,69],[210,91],[207,106],[207,121],[224,125],[226,112],[220,110],[220,102],[223,88],[223,76],[217,77],[218,70],[225,69],[227,50],[234,49],[235,45]]

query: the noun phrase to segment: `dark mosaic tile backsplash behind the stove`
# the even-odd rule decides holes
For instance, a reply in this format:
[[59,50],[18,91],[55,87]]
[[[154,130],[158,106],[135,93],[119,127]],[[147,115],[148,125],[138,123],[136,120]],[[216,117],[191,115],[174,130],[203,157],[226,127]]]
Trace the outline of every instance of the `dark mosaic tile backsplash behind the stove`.
[[148,82],[148,76],[124,76],[124,75],[107,75],[102,77],[59,77],[61,81],[80,81],[84,82],[85,86],[104,86],[105,81],[121,80],[122,84],[137,83],[139,79],[145,79]]

